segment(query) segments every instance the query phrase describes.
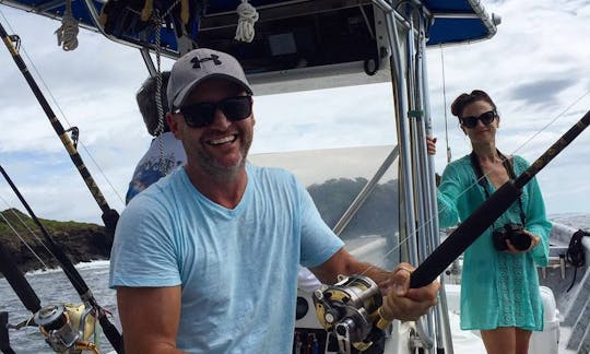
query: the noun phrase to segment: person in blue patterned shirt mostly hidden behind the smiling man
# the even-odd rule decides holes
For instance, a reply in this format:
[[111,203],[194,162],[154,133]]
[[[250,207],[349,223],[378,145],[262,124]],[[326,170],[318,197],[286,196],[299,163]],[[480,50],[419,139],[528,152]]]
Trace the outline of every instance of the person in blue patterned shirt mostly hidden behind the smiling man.
[[[168,102],[165,98],[166,87],[168,86],[169,71],[162,72],[161,99],[162,110],[164,114],[168,111]],[[174,168],[182,165],[187,161],[187,155],[179,140],[174,138],[170,132],[166,119],[162,119],[162,127],[158,131],[160,109],[156,99],[157,78],[148,78],[135,95],[138,107],[145,122],[148,132],[154,137],[150,143],[150,148],[139,161],[129,188],[126,194],[126,204],[129,204],[131,199],[139,192],[150,187],[170,173]]]

